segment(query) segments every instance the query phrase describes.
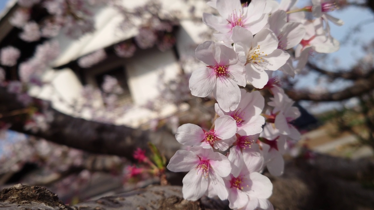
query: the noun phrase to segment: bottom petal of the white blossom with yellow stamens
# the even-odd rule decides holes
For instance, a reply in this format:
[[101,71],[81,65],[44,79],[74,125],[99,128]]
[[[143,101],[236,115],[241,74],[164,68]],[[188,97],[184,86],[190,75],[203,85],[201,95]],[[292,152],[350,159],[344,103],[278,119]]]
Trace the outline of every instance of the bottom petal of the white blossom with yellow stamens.
[[266,74],[265,70],[259,67],[256,64],[249,63],[245,67],[247,80],[258,89],[262,89],[267,81],[269,80],[269,76]]

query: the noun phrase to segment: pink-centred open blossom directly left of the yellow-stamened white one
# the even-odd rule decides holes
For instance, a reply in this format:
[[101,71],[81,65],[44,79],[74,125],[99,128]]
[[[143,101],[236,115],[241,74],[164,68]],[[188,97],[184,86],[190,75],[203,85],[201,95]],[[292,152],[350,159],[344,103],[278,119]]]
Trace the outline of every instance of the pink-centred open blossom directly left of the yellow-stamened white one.
[[208,66],[192,72],[189,81],[191,94],[206,97],[213,92],[221,109],[236,109],[240,101],[240,90],[237,85],[244,87],[246,81],[243,66],[238,62],[234,49],[220,43],[205,41],[196,48],[195,54],[197,59]]

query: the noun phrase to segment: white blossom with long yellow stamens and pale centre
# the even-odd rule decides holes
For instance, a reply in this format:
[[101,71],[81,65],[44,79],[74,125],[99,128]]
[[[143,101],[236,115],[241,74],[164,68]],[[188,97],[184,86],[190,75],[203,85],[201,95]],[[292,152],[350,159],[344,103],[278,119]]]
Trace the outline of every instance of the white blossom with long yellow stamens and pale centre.
[[233,40],[240,62],[245,64],[247,80],[256,88],[263,88],[269,77],[265,70],[275,71],[289,58],[278,49],[278,38],[269,29],[263,29],[252,38],[251,32],[240,27],[233,29]]

